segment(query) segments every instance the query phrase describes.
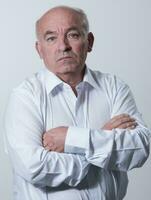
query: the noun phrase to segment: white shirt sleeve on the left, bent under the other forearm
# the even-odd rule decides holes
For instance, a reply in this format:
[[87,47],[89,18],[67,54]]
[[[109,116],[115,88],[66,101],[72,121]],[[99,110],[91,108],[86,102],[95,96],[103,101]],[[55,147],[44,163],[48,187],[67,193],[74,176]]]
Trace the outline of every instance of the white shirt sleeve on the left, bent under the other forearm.
[[5,115],[8,153],[15,173],[39,186],[77,185],[87,174],[84,156],[48,152],[42,146],[43,119],[31,94],[14,91]]

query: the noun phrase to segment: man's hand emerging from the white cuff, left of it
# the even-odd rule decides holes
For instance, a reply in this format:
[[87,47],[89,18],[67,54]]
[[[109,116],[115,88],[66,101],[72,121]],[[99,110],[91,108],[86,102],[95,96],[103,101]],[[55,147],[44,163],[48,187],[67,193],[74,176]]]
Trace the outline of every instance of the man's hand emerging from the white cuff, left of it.
[[43,134],[43,146],[46,150],[64,152],[65,138],[68,127],[60,126]]

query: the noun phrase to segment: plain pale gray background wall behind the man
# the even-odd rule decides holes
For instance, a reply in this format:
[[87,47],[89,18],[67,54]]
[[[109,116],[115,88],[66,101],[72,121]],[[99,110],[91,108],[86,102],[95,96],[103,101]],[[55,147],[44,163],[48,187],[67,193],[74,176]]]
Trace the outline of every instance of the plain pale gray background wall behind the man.
[[[125,80],[151,127],[151,1],[5,0],[0,3],[0,199],[11,200],[11,167],[4,153],[2,119],[12,88],[42,67],[34,49],[37,18],[59,4],[83,8],[95,35],[87,64]],[[151,199],[150,164],[149,158],[143,168],[129,172],[125,200]]]

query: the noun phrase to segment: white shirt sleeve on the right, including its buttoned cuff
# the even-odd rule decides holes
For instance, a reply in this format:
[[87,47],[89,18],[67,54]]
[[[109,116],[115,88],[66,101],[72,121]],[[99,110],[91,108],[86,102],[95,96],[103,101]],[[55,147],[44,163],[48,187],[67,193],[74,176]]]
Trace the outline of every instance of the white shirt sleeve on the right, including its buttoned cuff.
[[[134,117],[133,129],[87,129],[70,127],[65,152],[84,154],[89,163],[110,170],[127,171],[140,167],[149,155],[150,130],[139,114],[129,87],[121,84],[112,97],[111,118],[121,113]],[[80,140],[77,138],[80,138]]]

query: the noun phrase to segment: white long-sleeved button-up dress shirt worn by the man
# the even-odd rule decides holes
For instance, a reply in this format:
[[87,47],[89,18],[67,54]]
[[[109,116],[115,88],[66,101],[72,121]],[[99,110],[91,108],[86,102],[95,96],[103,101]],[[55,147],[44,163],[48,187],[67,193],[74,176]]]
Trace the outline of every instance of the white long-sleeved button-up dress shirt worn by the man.
[[[44,69],[13,90],[5,116],[13,200],[121,200],[126,172],[147,159],[150,132],[123,81],[86,68],[76,89],[77,97]],[[136,119],[134,130],[101,129],[122,113]],[[65,153],[42,146],[58,126],[69,127]]]

